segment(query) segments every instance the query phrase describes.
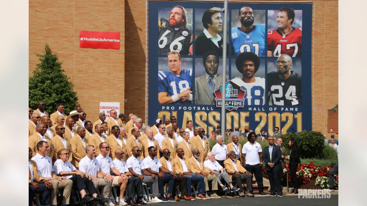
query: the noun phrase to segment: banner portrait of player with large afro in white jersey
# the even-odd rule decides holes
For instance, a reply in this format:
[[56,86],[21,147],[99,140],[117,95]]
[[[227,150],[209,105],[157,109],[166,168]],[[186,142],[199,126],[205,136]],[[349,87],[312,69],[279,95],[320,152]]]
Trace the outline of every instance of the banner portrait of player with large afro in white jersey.
[[232,59],[231,71],[232,81],[246,91],[244,105],[265,105],[265,60],[243,52]]

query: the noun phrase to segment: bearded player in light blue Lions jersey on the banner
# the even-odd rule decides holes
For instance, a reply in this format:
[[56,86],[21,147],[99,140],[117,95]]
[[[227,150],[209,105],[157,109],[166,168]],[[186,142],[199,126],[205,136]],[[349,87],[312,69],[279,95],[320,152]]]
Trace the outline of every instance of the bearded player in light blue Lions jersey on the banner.
[[254,25],[254,12],[248,6],[238,11],[241,27],[233,27],[231,31],[232,55],[242,52],[253,52],[265,56],[265,24]]

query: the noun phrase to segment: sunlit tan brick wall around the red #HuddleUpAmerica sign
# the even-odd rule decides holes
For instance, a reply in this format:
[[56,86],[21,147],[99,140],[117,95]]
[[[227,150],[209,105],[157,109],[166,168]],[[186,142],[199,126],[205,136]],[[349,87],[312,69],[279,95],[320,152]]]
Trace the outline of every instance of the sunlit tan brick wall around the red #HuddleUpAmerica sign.
[[[48,43],[75,84],[79,103],[92,122],[99,102],[125,99],[125,2],[119,0],[29,1],[29,75]],[[79,31],[120,32],[120,49],[79,48]],[[48,111],[53,113],[54,111]]]

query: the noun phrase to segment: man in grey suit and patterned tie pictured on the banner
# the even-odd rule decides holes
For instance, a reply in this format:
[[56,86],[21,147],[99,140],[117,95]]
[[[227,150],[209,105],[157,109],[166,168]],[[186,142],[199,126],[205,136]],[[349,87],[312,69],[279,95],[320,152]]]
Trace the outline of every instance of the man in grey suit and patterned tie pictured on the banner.
[[[203,66],[205,74],[195,78],[195,104],[214,104],[213,93],[222,84],[222,75],[218,74],[217,52],[206,52],[203,56]],[[226,76],[226,81],[228,81],[228,76]]]

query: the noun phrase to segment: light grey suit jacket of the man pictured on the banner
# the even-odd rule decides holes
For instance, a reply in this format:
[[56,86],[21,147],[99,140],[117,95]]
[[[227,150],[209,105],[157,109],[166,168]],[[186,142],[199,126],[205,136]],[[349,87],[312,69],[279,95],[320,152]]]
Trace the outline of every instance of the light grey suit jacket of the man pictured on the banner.
[[[228,81],[228,76],[226,76],[226,81]],[[215,89],[222,84],[222,75],[217,74],[215,79]],[[195,78],[195,104],[215,104],[213,101],[215,96],[210,96],[210,91],[208,87],[208,82],[206,80],[205,74],[201,77]]]

